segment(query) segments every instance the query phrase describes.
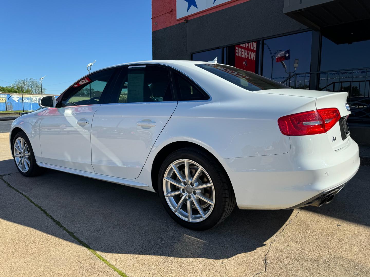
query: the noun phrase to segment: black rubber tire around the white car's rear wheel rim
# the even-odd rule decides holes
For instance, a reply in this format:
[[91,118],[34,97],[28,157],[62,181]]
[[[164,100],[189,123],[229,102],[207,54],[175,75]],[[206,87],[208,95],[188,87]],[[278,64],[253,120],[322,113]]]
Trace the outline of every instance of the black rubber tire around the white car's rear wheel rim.
[[[211,177],[212,179],[213,187],[215,190],[215,203],[210,215],[201,222],[188,222],[180,218],[178,215],[175,214],[174,211],[172,211],[164,196],[164,174],[167,168],[173,162],[181,159],[189,159],[198,163],[205,169],[209,177]],[[165,158],[159,170],[158,195],[159,198],[161,198],[165,210],[172,217],[172,219],[174,219],[177,223],[184,226],[185,228],[199,231],[212,228],[213,226],[221,223],[231,214],[236,204],[235,195],[231,183],[221,164],[219,164],[216,158],[208,152],[195,147],[181,148],[174,151]]]

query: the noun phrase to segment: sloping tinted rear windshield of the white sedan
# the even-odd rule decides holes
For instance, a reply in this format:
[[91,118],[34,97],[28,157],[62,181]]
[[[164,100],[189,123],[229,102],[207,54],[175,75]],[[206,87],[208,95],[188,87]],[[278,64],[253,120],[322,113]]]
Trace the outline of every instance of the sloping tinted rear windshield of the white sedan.
[[226,81],[229,81],[237,86],[240,86],[240,88],[249,91],[265,89],[290,89],[289,86],[229,65],[196,64],[196,66],[203,68],[206,71],[211,72],[222,79],[225,79]]

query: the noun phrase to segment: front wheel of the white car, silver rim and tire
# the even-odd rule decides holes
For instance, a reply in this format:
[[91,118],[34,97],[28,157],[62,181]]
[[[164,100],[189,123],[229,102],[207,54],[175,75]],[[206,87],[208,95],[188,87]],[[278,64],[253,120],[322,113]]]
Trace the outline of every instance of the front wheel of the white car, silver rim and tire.
[[13,138],[13,157],[17,170],[27,177],[42,174],[45,169],[36,164],[30,140],[23,131],[17,133]]

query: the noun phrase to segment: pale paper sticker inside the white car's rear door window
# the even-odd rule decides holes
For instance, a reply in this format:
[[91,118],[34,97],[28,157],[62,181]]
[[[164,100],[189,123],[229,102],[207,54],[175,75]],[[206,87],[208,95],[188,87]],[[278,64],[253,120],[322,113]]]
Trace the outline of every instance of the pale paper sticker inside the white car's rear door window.
[[144,98],[145,66],[128,68],[127,102],[142,102]]

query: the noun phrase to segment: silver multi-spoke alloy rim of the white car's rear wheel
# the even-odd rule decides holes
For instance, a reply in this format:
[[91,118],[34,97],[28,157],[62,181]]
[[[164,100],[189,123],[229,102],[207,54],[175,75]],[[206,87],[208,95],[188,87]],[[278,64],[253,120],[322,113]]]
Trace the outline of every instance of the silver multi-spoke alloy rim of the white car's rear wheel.
[[169,165],[163,179],[163,191],[172,211],[188,222],[205,220],[215,205],[211,177],[192,160],[177,160]]

